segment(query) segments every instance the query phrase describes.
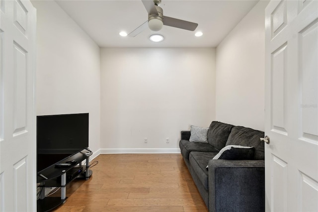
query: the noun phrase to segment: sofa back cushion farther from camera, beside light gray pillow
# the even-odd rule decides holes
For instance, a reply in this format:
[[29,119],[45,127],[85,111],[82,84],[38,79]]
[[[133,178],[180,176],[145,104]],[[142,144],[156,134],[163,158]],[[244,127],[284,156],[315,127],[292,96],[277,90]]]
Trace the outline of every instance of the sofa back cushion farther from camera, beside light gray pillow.
[[225,147],[234,125],[212,121],[208,131],[208,142],[219,151]]

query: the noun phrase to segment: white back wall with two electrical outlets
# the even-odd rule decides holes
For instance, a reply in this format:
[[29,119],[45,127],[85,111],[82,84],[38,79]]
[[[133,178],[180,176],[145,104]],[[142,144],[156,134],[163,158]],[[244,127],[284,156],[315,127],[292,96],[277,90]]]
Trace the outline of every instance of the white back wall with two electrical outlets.
[[102,48],[101,117],[101,152],[178,152],[215,119],[215,49]]

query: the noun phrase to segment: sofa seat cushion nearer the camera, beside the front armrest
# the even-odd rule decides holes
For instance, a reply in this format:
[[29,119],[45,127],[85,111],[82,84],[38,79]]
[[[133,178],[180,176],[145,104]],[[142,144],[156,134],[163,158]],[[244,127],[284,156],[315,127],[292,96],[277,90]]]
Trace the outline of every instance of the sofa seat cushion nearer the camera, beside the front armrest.
[[206,190],[209,190],[209,171],[206,169],[206,166],[217,154],[217,152],[190,152],[189,155],[190,166]]

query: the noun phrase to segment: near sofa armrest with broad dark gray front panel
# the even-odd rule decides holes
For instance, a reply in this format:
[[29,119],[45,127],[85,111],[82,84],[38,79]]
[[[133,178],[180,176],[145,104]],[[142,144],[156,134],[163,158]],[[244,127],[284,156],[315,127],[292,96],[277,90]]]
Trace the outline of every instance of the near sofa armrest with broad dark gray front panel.
[[210,160],[209,212],[265,211],[264,160]]

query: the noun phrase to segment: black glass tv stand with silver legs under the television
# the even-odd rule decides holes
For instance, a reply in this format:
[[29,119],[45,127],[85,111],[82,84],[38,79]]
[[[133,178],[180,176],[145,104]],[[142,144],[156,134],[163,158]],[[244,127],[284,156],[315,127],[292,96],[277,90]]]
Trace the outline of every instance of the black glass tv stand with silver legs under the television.
[[[66,185],[73,180],[89,179],[93,173],[89,169],[89,156],[92,154],[89,150],[82,150],[60,162],[65,163],[75,160],[77,161],[76,164],[68,167],[56,167],[52,165],[38,173],[37,183],[40,183],[41,192],[40,199],[37,201],[37,212],[48,212],[65,203],[67,199]],[[86,160],[85,165],[81,165],[84,160]],[[45,187],[61,187],[61,197],[45,197]]]

